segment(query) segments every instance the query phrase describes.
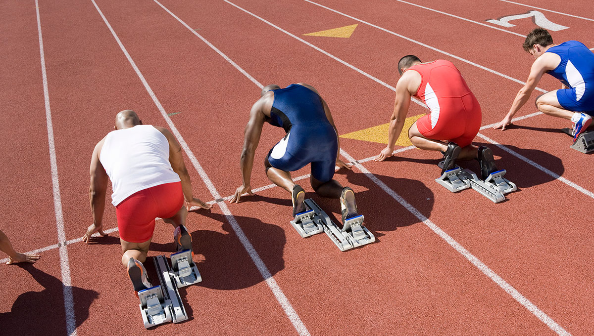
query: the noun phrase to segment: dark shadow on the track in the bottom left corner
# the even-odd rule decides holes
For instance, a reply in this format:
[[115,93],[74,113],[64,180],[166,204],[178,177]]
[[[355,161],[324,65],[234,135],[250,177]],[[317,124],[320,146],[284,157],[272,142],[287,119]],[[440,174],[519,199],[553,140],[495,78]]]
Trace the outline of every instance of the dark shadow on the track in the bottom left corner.
[[[64,286],[62,281],[33,264],[18,265],[43,286],[41,292],[26,292],[17,297],[10,313],[0,313],[2,335],[65,335]],[[71,287],[76,300],[75,323],[80,326],[89,318],[89,307],[99,293]]]

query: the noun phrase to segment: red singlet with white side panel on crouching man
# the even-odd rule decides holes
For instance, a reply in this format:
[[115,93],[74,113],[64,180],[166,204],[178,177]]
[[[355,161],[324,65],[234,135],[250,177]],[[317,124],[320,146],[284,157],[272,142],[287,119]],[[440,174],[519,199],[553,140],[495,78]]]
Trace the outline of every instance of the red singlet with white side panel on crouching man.
[[431,110],[416,121],[419,132],[428,139],[456,142],[460,147],[470,145],[481,128],[481,106],[456,66],[435,60],[408,70],[421,75],[415,97]]

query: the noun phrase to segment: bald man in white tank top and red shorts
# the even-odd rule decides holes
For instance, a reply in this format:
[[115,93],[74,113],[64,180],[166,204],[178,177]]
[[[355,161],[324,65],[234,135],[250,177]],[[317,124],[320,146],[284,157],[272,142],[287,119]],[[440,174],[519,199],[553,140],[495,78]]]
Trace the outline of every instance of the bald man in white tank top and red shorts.
[[185,220],[191,206],[210,209],[192,196],[192,185],[181,146],[169,130],[143,125],[137,114],[124,110],[116,116],[115,129],[105,136],[91,158],[89,199],[93,224],[83,237],[103,232],[103,211],[108,179],[112,182],[112,204],[116,207],[122,264],[135,291],[151,286],[143,262],[149,252],[155,218],[173,225],[178,251],[192,248]]

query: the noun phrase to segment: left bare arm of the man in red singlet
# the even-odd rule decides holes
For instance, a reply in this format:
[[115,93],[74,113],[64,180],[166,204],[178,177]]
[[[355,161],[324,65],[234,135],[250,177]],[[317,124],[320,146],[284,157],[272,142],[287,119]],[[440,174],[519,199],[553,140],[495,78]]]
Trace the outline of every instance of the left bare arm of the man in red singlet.
[[396,140],[402,133],[404,127],[406,114],[410,106],[410,81],[416,72],[407,71],[402,75],[400,81],[396,84],[396,98],[394,99],[394,111],[390,117],[390,127],[388,128],[388,145],[382,149],[380,155],[374,161],[384,161],[386,158],[392,156]]

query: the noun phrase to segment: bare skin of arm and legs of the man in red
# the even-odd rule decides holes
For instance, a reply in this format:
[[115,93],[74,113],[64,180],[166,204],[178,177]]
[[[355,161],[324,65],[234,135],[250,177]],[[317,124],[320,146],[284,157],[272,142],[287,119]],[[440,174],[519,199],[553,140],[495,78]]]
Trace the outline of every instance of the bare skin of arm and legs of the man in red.
[[[412,67],[414,65],[426,63],[431,62],[421,63],[417,61],[413,62],[410,66]],[[381,150],[380,155],[378,155],[374,161],[384,161],[386,158],[389,158],[393,155],[394,145],[396,145],[396,140],[398,140],[398,137],[402,132],[402,127],[405,124],[406,115],[408,114],[410,107],[410,99],[417,93],[417,91],[419,91],[419,87],[421,87],[421,74],[416,72],[414,69],[411,71],[408,70],[409,68],[400,69],[403,74],[396,84],[394,111],[390,117],[390,127],[388,129],[388,145],[386,148]],[[428,139],[423,136],[416,127],[416,121],[412,124],[412,126],[410,126],[408,134],[410,142],[412,142],[416,148],[424,149],[425,151],[445,152],[447,150],[447,143],[440,140]],[[470,145],[462,148],[458,159],[472,159],[476,158],[477,155],[477,147]]]

